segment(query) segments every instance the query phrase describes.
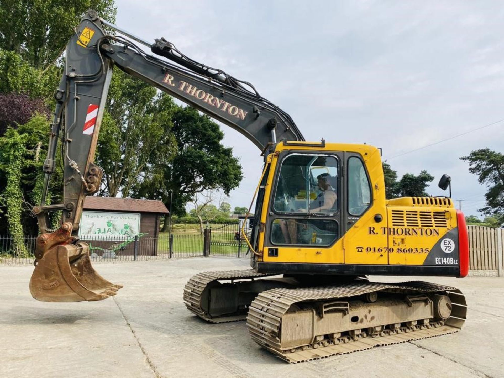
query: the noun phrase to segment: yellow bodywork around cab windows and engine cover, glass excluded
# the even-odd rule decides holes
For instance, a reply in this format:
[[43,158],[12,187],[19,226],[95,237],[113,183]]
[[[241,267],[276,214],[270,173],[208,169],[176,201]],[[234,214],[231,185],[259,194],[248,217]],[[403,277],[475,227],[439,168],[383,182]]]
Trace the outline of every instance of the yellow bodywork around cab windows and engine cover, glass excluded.
[[[299,143],[302,144],[302,143]],[[310,145],[311,144],[311,145]],[[282,151],[322,153],[356,153],[364,161],[372,188],[372,201],[368,210],[348,227],[343,224],[343,234],[331,246],[275,246],[278,256],[269,257],[265,231],[270,198],[275,186],[274,177]],[[385,183],[380,151],[369,145],[327,143],[325,146],[285,146],[279,143],[275,153],[268,156],[270,170],[265,185],[264,204],[259,232],[259,261],[272,263],[316,264],[391,264],[422,265],[430,248],[448,231],[457,226],[456,211],[449,199],[400,198],[385,199]],[[346,173],[345,173],[346,174]],[[341,202],[341,212],[346,201]],[[381,216],[377,221],[375,216]],[[358,217],[355,217],[358,218]],[[347,222],[343,217],[342,222]],[[348,222],[351,222],[349,219]],[[344,231],[346,229],[346,232]]]

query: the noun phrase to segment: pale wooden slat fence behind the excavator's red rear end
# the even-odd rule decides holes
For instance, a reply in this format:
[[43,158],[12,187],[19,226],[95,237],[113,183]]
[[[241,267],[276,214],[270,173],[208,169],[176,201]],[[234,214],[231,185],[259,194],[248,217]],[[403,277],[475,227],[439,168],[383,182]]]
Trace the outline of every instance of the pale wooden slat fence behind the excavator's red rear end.
[[469,233],[469,269],[498,271],[502,274],[502,237],[504,229],[467,226]]

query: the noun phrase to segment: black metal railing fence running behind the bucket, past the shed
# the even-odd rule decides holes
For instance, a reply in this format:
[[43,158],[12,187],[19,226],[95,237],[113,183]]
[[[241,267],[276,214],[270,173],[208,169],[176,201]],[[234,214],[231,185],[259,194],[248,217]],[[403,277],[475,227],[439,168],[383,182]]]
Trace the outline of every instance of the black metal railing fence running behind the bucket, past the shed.
[[[248,245],[241,225],[207,227],[202,234],[160,234],[158,237],[94,235],[81,238],[88,243],[92,261],[137,261],[220,255],[247,257]],[[250,230],[245,227],[245,234]],[[29,265],[35,259],[36,235],[24,236],[16,243],[12,236],[0,235],[0,265]]]

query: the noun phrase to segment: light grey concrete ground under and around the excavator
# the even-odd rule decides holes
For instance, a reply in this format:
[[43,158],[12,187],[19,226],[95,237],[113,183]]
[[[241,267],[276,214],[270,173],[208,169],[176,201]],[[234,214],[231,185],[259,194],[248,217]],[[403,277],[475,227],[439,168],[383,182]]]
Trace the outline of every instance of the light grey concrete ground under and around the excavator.
[[468,320],[461,332],[294,365],[251,341],[244,322],[210,325],[185,309],[188,278],[205,270],[247,268],[248,260],[95,266],[105,278],[124,284],[113,299],[38,302],[28,290],[32,267],[0,268],[0,376],[504,376],[502,278],[423,278],[457,286],[467,296]]

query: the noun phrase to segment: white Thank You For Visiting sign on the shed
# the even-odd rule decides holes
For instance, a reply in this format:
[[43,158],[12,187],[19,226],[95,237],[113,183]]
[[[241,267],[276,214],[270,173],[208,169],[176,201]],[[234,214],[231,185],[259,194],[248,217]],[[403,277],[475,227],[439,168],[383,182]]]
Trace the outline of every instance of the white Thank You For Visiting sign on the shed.
[[110,235],[127,238],[138,235],[139,231],[140,214],[138,213],[83,211],[79,236],[86,238]]

